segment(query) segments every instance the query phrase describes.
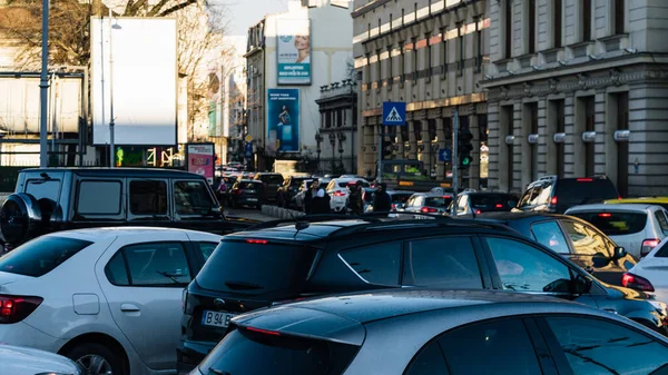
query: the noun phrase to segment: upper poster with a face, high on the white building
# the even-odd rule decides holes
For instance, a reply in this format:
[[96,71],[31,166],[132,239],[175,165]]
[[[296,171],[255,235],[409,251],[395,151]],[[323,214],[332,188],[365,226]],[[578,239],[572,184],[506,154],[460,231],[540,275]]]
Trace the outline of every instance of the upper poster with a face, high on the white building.
[[311,85],[311,23],[276,20],[278,85]]

